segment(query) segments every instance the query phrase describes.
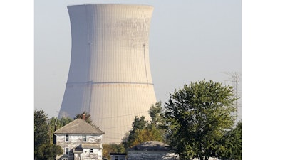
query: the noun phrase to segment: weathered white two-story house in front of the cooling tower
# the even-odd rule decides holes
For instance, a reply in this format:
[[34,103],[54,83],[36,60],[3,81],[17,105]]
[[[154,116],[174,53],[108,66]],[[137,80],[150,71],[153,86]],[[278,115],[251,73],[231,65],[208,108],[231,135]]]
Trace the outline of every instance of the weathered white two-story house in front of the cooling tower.
[[56,160],[102,160],[104,132],[84,119],[75,119],[53,133],[54,142],[63,149]]

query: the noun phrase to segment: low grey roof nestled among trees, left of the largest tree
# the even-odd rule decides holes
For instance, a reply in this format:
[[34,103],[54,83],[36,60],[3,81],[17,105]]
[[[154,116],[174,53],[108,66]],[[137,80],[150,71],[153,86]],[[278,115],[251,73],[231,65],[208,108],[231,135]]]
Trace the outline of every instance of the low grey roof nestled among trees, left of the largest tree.
[[167,144],[158,141],[147,141],[133,148],[128,149],[128,151],[172,151],[171,147]]

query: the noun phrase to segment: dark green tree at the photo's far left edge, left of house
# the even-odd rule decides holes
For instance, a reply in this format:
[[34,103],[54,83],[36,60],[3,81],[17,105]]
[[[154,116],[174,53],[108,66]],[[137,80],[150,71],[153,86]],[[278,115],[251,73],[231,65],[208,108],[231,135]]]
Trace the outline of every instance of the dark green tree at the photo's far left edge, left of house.
[[33,127],[33,138],[34,138],[34,156],[38,153],[38,148],[42,144],[49,142],[48,139],[48,115],[43,110],[34,110],[34,127]]

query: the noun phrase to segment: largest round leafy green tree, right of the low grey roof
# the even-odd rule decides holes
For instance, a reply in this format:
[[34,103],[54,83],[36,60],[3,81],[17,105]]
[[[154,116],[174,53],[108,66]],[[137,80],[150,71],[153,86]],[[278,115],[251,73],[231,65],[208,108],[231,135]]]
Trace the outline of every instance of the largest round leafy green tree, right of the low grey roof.
[[165,128],[180,159],[217,156],[220,139],[234,124],[235,100],[232,87],[212,80],[191,82],[170,94]]

